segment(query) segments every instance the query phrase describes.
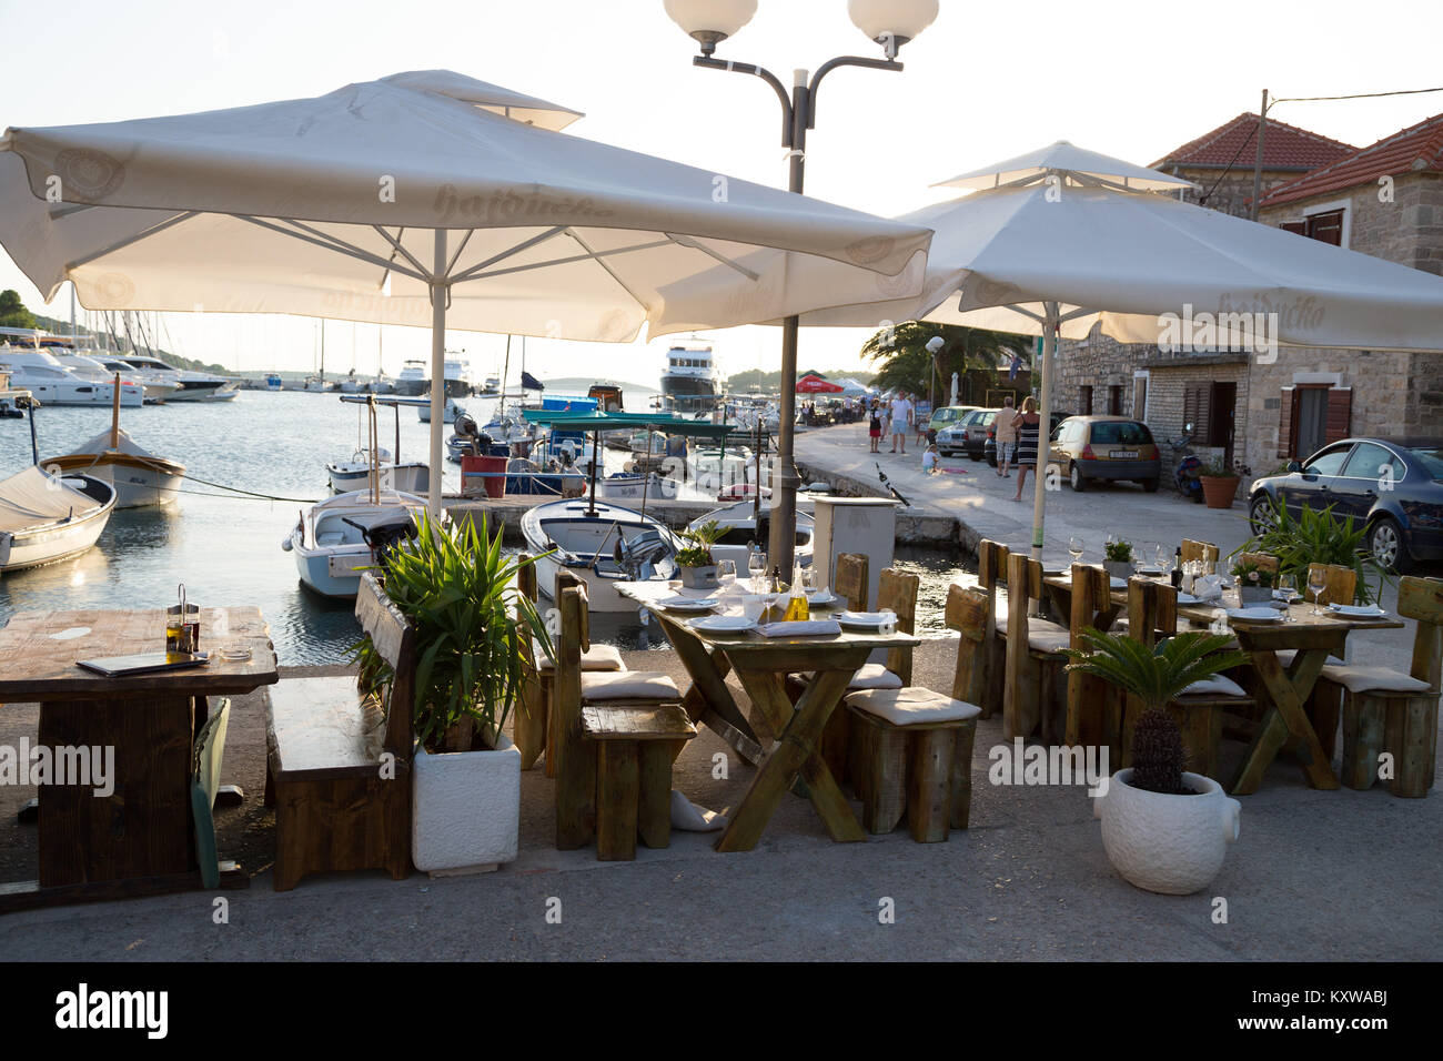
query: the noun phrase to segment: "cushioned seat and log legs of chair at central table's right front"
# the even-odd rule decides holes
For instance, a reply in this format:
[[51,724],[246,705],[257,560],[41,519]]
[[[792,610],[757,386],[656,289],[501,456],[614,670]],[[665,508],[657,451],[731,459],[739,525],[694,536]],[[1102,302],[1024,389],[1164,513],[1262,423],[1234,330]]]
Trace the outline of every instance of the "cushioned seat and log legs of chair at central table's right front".
[[890,833],[905,813],[919,843],[967,829],[981,709],[915,686],[848,693],[844,703],[853,722],[851,778],[863,827]]

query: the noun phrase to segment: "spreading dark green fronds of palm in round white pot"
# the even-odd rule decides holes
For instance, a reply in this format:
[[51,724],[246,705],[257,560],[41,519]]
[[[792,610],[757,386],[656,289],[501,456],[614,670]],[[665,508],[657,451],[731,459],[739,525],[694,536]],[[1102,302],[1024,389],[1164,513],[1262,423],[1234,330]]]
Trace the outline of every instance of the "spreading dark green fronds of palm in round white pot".
[[1248,661],[1247,652],[1228,650],[1229,635],[1201,629],[1159,641],[1152,650],[1127,634],[1101,634],[1092,628],[1082,632],[1082,641],[1087,651],[1062,650],[1072,660],[1068,670],[1105,678],[1136,696],[1149,710],[1162,710],[1193,681]]

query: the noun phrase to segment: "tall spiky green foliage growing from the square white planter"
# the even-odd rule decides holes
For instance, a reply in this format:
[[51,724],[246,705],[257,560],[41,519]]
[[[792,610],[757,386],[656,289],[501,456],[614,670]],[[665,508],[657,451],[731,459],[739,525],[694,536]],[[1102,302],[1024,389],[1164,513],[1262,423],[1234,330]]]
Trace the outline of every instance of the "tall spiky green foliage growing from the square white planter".
[[[492,746],[525,681],[534,680],[522,628],[551,654],[535,605],[517,589],[517,573],[535,563],[501,551],[501,528],[486,515],[442,525],[421,514],[414,540],[387,562],[385,592],[416,629],[416,739],[427,751],[472,751],[473,736]],[[385,690],[390,667],[362,638],[352,647],[362,687]]]

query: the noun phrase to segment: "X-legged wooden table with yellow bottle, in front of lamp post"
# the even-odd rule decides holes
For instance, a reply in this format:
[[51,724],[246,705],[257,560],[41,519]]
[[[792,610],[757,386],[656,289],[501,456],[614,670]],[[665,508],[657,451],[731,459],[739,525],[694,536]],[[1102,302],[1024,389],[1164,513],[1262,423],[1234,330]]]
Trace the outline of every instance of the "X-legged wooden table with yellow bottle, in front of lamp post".
[[[804,782],[798,785],[798,791],[811,800],[833,840],[864,840],[866,833],[818,745],[827,720],[847,693],[851,676],[867,657],[879,648],[916,647],[922,644],[921,639],[902,632],[856,629],[818,637],[698,631],[690,625],[697,612],[670,611],[658,602],[678,595],[701,598],[709,593],[678,592],[665,582],[622,582],[616,590],[645,605],[657,616],[681,658],[691,677],[691,689],[683,699],[683,707],[691,720],[716,732],[746,762],[759,767],[742,803],[729,816],[716,849],[743,852],[755,847],[782,797],[798,778]],[[724,602],[734,599],[723,598]],[[812,616],[835,616],[843,608],[840,601],[830,606],[817,605]],[[722,611],[734,612],[736,606],[723,603]],[[762,739],[737,707],[726,684],[732,671],[760,717],[778,735],[771,748],[762,746]],[[786,693],[786,676],[795,673],[814,673],[815,677],[794,704]]]

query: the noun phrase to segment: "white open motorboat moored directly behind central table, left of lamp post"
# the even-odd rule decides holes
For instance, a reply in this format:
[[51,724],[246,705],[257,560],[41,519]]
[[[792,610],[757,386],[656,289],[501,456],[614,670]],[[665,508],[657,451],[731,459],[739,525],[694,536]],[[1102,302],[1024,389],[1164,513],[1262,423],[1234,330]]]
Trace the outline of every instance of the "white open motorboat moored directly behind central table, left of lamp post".
[[[675,577],[677,537],[658,520],[631,508],[583,499],[527,510],[521,534],[537,560],[537,588],[556,598],[556,576],[569,570],[586,583],[593,612],[633,612],[636,602],[618,582]],[[550,556],[543,556],[550,553]]]

